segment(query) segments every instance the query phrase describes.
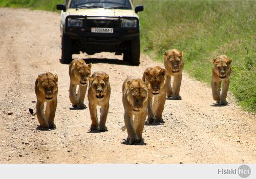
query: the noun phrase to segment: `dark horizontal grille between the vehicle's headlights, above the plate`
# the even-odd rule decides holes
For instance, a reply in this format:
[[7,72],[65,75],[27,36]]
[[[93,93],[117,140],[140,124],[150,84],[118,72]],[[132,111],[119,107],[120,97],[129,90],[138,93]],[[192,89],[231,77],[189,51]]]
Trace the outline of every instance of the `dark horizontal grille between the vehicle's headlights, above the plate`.
[[87,28],[120,28],[119,20],[95,20],[87,19]]

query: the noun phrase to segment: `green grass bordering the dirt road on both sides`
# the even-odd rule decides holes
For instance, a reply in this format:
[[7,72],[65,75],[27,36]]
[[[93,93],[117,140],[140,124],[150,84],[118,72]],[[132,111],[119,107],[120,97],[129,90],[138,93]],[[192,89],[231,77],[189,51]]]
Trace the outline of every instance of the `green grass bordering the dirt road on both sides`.
[[[0,6],[56,11],[63,0],[1,0]],[[134,0],[140,12],[141,51],[162,61],[165,50],[184,52],[186,72],[210,85],[210,60],[232,59],[230,91],[256,112],[256,1]]]

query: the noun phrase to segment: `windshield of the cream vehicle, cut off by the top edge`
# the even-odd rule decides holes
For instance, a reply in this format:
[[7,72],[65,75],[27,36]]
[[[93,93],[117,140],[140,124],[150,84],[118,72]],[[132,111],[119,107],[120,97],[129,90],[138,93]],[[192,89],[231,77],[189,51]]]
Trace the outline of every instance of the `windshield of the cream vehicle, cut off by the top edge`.
[[72,0],[70,8],[132,9],[132,6],[129,0]]

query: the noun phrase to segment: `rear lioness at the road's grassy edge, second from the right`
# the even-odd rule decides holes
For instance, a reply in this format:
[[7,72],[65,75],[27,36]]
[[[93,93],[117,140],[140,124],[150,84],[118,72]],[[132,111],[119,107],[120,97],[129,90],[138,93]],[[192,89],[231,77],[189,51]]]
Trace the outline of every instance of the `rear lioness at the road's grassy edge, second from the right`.
[[[182,60],[183,52],[177,49],[170,49],[164,53],[164,67],[166,70],[166,93],[167,97],[181,99],[180,85],[182,80],[182,70],[184,62]],[[173,88],[170,85],[170,78],[174,76]]]

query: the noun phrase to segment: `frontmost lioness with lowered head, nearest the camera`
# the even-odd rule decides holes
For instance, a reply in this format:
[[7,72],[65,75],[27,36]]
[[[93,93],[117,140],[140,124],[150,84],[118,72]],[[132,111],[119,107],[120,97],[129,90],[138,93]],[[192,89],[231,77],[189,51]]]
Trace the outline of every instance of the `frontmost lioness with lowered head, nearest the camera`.
[[[147,115],[147,86],[140,78],[129,76],[123,82],[124,123],[122,131],[127,128],[129,144],[144,142],[142,131]],[[134,120],[133,120],[134,115]]]

